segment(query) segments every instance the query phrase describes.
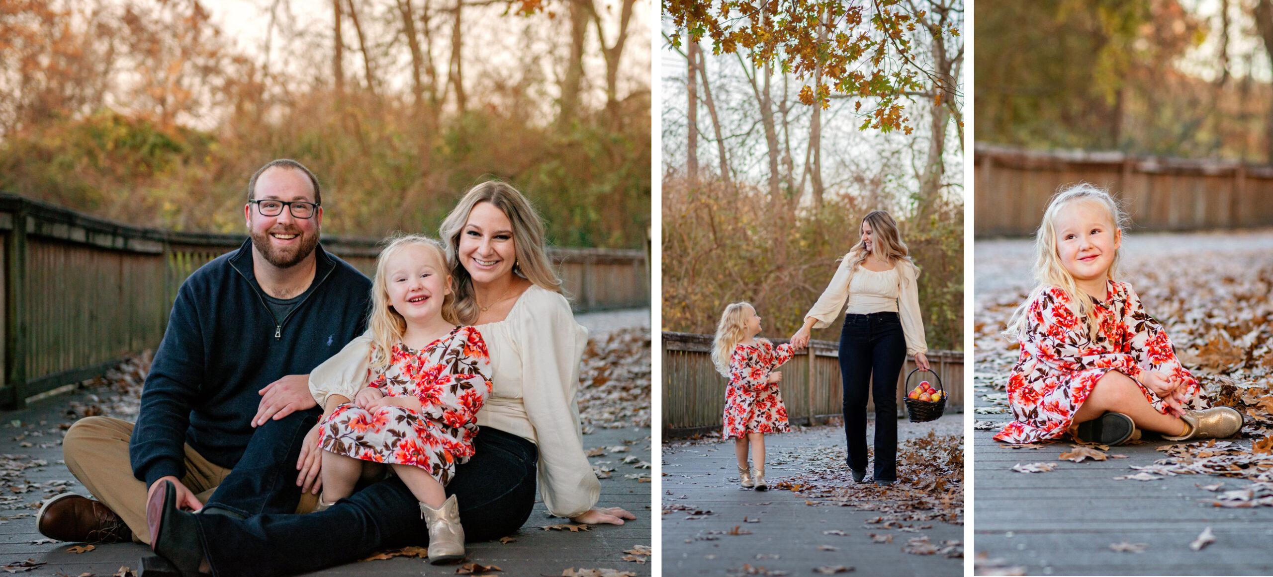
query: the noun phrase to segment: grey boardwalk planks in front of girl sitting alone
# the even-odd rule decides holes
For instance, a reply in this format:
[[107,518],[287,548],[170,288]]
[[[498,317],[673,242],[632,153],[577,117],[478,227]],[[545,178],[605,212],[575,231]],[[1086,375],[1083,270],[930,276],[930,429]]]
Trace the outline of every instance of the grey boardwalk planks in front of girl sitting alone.
[[[989,408],[988,388],[976,386],[974,407]],[[997,405],[995,405],[997,407]],[[980,414],[1007,423],[1007,414]],[[976,466],[973,548],[1017,566],[1017,574],[1270,574],[1273,508],[1223,508],[1202,502],[1216,493],[1198,484],[1241,479],[1175,475],[1156,480],[1114,480],[1137,473],[1162,456],[1165,441],[1110,447],[1125,459],[1071,463],[1058,459],[1071,449],[1055,442],[1043,449],[1009,449],[975,431]],[[1249,444],[1249,440],[1241,442]],[[1055,463],[1049,473],[1017,473],[1016,464]],[[1192,550],[1207,527],[1216,541]],[[1144,544],[1143,553],[1114,552],[1115,543]]]

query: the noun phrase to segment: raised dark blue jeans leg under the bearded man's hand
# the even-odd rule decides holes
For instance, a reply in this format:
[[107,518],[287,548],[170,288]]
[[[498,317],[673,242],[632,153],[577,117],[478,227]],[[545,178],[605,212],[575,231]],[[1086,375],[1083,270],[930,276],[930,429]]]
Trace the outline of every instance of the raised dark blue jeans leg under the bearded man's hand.
[[244,517],[295,512],[300,502],[297,487],[300,445],[321,416],[317,409],[298,411],[257,427],[243,456],[204,506]]

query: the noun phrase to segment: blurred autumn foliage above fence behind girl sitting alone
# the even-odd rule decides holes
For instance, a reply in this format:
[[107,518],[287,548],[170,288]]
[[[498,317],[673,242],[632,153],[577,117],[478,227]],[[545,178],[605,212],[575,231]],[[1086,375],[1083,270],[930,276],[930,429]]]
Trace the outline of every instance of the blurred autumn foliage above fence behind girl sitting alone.
[[1269,0],[976,0],[975,137],[1273,161]]

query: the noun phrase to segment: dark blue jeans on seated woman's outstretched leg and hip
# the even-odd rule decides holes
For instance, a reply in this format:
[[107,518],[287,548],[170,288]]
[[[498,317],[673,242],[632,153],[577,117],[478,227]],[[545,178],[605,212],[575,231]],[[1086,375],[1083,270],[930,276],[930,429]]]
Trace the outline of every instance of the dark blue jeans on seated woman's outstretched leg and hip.
[[[465,538],[484,541],[517,531],[535,507],[535,444],[482,428],[476,454],[456,466],[454,494]],[[295,484],[295,459],[292,482]],[[309,515],[265,513],[238,520],[196,515],[204,554],[219,576],[276,576],[318,571],[405,545],[425,545],[420,505],[397,478],[374,483]]]

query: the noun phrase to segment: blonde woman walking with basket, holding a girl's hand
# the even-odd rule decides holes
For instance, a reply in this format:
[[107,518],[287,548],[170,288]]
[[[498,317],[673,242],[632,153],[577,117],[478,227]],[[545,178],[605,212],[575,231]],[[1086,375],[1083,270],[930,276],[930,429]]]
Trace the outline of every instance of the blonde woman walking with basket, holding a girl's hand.
[[[906,356],[928,369],[928,344],[919,314],[919,268],[897,236],[897,222],[885,211],[862,219],[862,240],[840,266],[805,325],[792,336],[797,347],[810,332],[831,325],[843,309],[840,377],[844,380],[844,436],[853,480],[867,470],[867,394],[875,391],[875,483],[897,480],[897,375]],[[869,389],[868,389],[869,386]]]

